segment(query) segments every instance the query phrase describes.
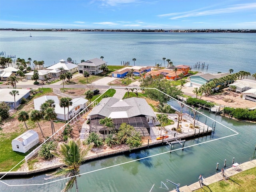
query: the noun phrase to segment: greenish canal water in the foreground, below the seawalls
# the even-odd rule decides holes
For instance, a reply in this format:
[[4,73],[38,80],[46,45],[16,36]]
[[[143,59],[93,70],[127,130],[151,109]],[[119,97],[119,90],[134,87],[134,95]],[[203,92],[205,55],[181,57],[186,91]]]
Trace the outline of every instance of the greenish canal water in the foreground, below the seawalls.
[[[179,109],[178,104],[171,103]],[[185,112],[188,112],[184,108]],[[216,123],[216,128],[212,135],[186,140],[185,147],[206,142],[204,144],[185,148],[184,150],[175,150],[180,148],[180,144],[174,144],[172,153],[168,152],[170,146],[163,145],[131,154],[124,154],[87,162],[80,167],[80,173],[84,173],[78,177],[78,187],[80,191],[87,192],[148,192],[153,184],[155,184],[152,192],[166,192],[176,188],[171,183],[166,183],[166,179],[174,183],[180,183],[181,186],[190,185],[198,181],[198,176],[202,174],[204,177],[211,176],[216,173],[216,164],[219,163],[219,170],[224,166],[224,160],[227,160],[227,166],[232,165],[232,160],[242,163],[256,158],[256,124],[248,122],[238,122],[209,113],[208,110],[200,110],[206,116],[224,124],[225,126],[238,132],[238,135],[223,138],[235,134],[232,130]],[[198,116],[197,118],[198,119]],[[199,120],[205,122],[208,126],[212,126],[212,120],[201,114]],[[164,153],[167,152],[167,153]],[[160,154],[164,153],[164,154]],[[153,156],[143,160],[122,164],[146,156]],[[122,164],[111,168],[106,168],[116,164]],[[106,169],[104,169],[106,168]],[[102,170],[100,170],[102,169]],[[45,174],[31,176],[20,179],[4,179],[2,181],[10,185],[30,184],[30,186],[7,186],[0,183],[1,192],[52,192],[60,191],[66,182],[61,180],[44,180],[47,178]],[[159,188],[161,181],[166,183],[169,190]],[[52,182],[45,185],[46,182]],[[73,187],[72,192],[75,192]]]

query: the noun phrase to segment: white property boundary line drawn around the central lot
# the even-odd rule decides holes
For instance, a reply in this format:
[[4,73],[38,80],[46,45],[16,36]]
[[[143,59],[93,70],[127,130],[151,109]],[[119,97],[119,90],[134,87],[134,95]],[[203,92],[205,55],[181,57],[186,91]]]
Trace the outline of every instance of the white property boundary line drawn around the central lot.
[[[115,87],[115,86],[112,86],[112,87],[108,88],[106,91],[108,91],[108,90],[111,89],[111,88],[114,88],[114,89],[115,89],[115,88],[118,88],[118,89],[119,89],[119,88],[125,89],[125,88],[134,88],[134,87]],[[136,88],[136,89],[141,89],[141,88]],[[158,89],[156,89],[156,88],[143,88],[143,89],[154,89],[154,90],[158,90]],[[106,92],[106,91],[105,91],[105,92]],[[177,100],[177,99],[175,99],[175,98],[169,96],[168,94],[166,94],[166,93],[164,93],[164,92],[162,92],[162,91],[160,91],[160,90],[158,90],[158,91],[161,92],[162,94],[165,94],[166,96],[170,97],[171,99],[176,100],[177,102],[180,102],[179,100]],[[105,93],[105,92],[104,92],[104,93]],[[102,94],[104,94],[104,93],[102,93]],[[99,97],[100,97],[100,96],[99,96]],[[99,98],[99,97],[98,97],[98,98]],[[98,99],[98,98],[97,98],[97,99]],[[97,99],[96,99],[96,100],[97,100]],[[95,102],[95,100],[94,100],[92,103],[94,103],[94,102]],[[92,103],[91,103],[91,104],[92,104]],[[180,103],[181,103],[181,102],[180,102]],[[90,104],[90,105],[91,105],[91,104]],[[182,103],[182,104],[184,104],[184,103]],[[90,105],[88,105],[88,106],[90,106]],[[192,109],[192,110],[195,110],[195,109],[191,108],[190,106],[188,106],[187,104],[184,104],[184,105],[187,106],[188,108]],[[88,106],[87,106],[87,107],[88,107]],[[84,109],[84,110],[85,110],[85,109]],[[196,110],[196,111],[197,111],[197,110]],[[79,174],[79,175],[76,175],[76,176],[81,176],[81,175],[89,174],[89,173],[92,173],[92,172],[97,172],[97,171],[101,171],[101,170],[104,170],[104,169],[108,169],[108,168],[112,168],[112,167],[116,167],[116,166],[128,164],[128,163],[131,163],[131,162],[136,162],[136,161],[139,161],[139,160],[151,158],[151,157],[154,157],[154,156],[166,154],[166,153],[173,152],[173,151],[177,151],[177,150],[181,150],[181,149],[190,148],[190,147],[193,147],[193,146],[205,144],[205,143],[208,143],[208,142],[212,142],[212,141],[216,141],[216,140],[228,138],[228,137],[235,136],[235,135],[238,135],[238,134],[239,134],[239,133],[236,132],[235,130],[233,130],[233,129],[231,129],[231,128],[225,126],[224,124],[222,124],[222,123],[220,123],[220,122],[218,122],[218,121],[216,121],[216,120],[214,120],[214,119],[212,119],[212,118],[206,116],[205,114],[203,114],[203,113],[201,113],[201,112],[199,112],[199,111],[197,111],[197,112],[200,113],[200,114],[202,114],[202,115],[205,116],[206,118],[209,118],[209,119],[213,120],[214,122],[217,122],[218,124],[224,126],[225,128],[228,128],[229,130],[235,132],[235,134],[232,134],[232,135],[229,135],[229,136],[224,136],[224,137],[221,137],[221,138],[216,138],[216,139],[213,139],[213,140],[205,141],[205,142],[198,143],[198,144],[194,144],[194,145],[190,145],[190,146],[186,146],[186,147],[183,147],[183,148],[178,148],[178,149],[175,149],[175,150],[170,150],[170,151],[162,152],[162,153],[159,153],[159,154],[155,154],[155,155],[143,157],[143,158],[140,158],[140,159],[131,160],[131,161],[128,161],[128,162],[124,162],[124,163],[120,163],[120,164],[108,166],[108,167],[105,167],[105,168],[101,168],[101,169],[97,169],[97,170],[85,172],[85,173],[82,173],[82,174]],[[71,120],[70,120],[70,121],[71,121]],[[69,121],[69,122],[70,122],[70,121]],[[69,122],[68,122],[68,123],[69,123]],[[67,123],[67,124],[68,124],[68,123]],[[64,126],[63,126],[63,127],[64,127]],[[62,127],[62,128],[63,128],[63,127]],[[62,128],[60,128],[59,130],[61,130]],[[58,130],[58,131],[59,131],[59,130]],[[54,134],[56,134],[58,131],[56,131]],[[54,136],[54,134],[53,134],[52,136]],[[52,137],[52,136],[51,136],[51,137]],[[51,137],[50,137],[50,138],[51,138]],[[49,139],[49,138],[48,138],[48,139]],[[47,139],[47,140],[48,140],[48,139]],[[46,140],[46,141],[47,141],[47,140]],[[45,141],[45,142],[46,142],[46,141]],[[44,143],[45,143],[45,142],[44,142]],[[43,143],[43,144],[44,144],[44,143]],[[42,144],[41,144],[41,145],[42,145]],[[40,146],[41,146],[41,145],[40,145]],[[40,146],[39,146],[39,147],[40,147]],[[24,159],[25,159],[25,158],[24,158]],[[22,161],[24,161],[24,159],[21,160],[18,164],[20,164]],[[18,166],[18,164],[16,164],[16,166]],[[14,166],[11,170],[13,170],[16,166]],[[10,170],[10,171],[11,171],[11,170]],[[8,171],[6,174],[8,174],[10,171]],[[4,174],[4,176],[6,176],[6,174]],[[76,177],[76,176],[66,177],[66,178],[62,178],[62,179],[58,179],[58,180],[54,180],[54,181],[46,182],[46,183],[42,183],[42,184],[10,185],[10,184],[7,184],[6,182],[1,181],[1,179],[2,179],[4,176],[2,176],[2,177],[0,178],[0,182],[6,184],[7,186],[38,186],[38,185],[46,185],[46,184],[50,184],[50,183],[53,183],[53,182],[58,182],[58,181],[65,180],[65,179],[68,179],[68,178]]]

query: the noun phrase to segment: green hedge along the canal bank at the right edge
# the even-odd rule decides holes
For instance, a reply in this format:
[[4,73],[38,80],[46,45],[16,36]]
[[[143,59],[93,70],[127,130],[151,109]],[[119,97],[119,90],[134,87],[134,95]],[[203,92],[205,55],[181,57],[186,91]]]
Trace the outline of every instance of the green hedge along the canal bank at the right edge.
[[240,120],[256,121],[256,110],[225,107],[224,113]]

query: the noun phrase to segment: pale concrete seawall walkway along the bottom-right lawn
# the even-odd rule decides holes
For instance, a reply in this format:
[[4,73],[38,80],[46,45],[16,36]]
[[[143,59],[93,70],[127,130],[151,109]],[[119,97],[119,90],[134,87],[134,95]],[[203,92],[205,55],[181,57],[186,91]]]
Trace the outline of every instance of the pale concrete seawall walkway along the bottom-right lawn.
[[[251,160],[251,161],[248,161],[248,162],[244,162],[242,164],[239,164],[238,168],[234,168],[234,167],[230,167],[230,168],[227,168],[225,169],[225,174],[227,176],[227,178],[235,175],[235,174],[238,174],[242,171],[245,171],[245,170],[248,170],[248,169],[251,169],[251,168],[254,168],[256,167],[256,159],[254,160]],[[200,175],[200,173],[198,173],[198,176]],[[221,181],[223,180],[223,177],[221,175],[221,172],[218,172],[208,178],[205,178],[205,180],[203,181],[203,183],[208,186],[212,183],[215,183],[215,182],[218,182],[218,181]],[[199,181],[196,182],[196,183],[193,183],[189,186],[182,186],[180,187],[180,192],[192,192],[194,190],[197,190],[197,189],[200,189],[201,186],[200,186],[200,183]],[[170,192],[176,192],[176,190],[172,190]]]

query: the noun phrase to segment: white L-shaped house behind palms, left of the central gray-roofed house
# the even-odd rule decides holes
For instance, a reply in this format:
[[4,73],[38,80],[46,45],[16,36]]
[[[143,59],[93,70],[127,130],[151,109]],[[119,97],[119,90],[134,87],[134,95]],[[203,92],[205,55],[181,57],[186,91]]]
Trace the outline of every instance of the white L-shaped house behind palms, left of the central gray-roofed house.
[[[34,109],[40,110],[40,106],[49,99],[54,100],[54,110],[55,110],[55,113],[57,114],[57,119],[65,120],[64,108],[60,107],[60,101],[57,96],[42,96],[34,99]],[[86,108],[86,102],[88,102],[87,99],[74,98],[72,100],[72,106],[69,106],[69,112],[68,112],[68,108],[65,108],[66,120],[74,117],[81,110]]]

